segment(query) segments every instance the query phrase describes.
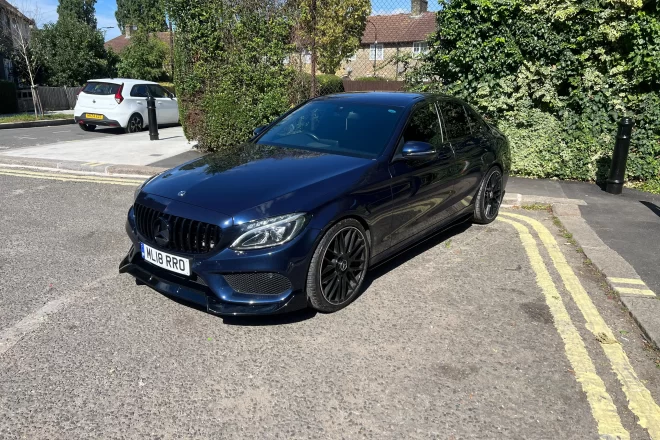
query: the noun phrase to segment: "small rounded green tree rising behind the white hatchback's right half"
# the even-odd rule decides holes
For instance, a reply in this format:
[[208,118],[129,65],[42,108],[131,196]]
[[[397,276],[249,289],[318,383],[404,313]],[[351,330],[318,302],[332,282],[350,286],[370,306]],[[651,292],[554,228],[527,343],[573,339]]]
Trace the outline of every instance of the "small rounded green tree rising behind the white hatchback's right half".
[[131,44],[121,53],[117,72],[126,78],[162,81],[167,77],[163,69],[167,52],[165,43],[138,28],[138,33],[131,37]]

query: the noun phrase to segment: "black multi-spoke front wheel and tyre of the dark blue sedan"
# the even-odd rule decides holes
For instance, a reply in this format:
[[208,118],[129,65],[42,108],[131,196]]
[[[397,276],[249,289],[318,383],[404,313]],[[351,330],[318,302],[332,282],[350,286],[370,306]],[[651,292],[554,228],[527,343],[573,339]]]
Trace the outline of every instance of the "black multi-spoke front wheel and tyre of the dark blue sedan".
[[369,256],[369,240],[359,221],[346,219],[330,228],[316,247],[307,273],[311,307],[332,313],[349,305],[360,293]]

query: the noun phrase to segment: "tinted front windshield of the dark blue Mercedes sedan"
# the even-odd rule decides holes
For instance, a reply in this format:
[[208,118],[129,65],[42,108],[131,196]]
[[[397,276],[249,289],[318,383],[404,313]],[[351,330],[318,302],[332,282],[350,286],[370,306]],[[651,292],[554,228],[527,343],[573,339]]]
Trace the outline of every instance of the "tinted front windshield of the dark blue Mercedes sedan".
[[403,107],[312,101],[287,115],[257,141],[328,153],[378,157]]

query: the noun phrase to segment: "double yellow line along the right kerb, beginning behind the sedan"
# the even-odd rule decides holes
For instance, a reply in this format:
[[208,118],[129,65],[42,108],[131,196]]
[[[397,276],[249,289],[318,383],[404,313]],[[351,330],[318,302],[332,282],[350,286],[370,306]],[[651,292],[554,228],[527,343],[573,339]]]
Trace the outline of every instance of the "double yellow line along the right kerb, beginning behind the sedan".
[[617,408],[607,392],[603,380],[596,372],[584,341],[566,311],[557,286],[543,262],[537,241],[530,233],[529,228],[523,223],[529,225],[540,238],[559,273],[564,288],[570,293],[571,298],[586,320],[587,329],[600,343],[628,399],[628,408],[635,414],[639,425],[648,431],[651,438],[660,440],[660,407],[653,400],[649,390],[637,377],[623,347],[598,313],[596,306],[559,249],[553,235],[543,224],[530,217],[509,212],[501,212],[501,215],[503,216],[499,218],[501,221],[512,225],[518,231],[532,269],[536,273],[537,284],[543,291],[546,303],[554,318],[554,325],[564,342],[566,356],[573,367],[573,371],[575,371],[576,379],[580,382],[582,390],[587,396],[600,436],[605,438],[630,438],[630,434],[621,424]]

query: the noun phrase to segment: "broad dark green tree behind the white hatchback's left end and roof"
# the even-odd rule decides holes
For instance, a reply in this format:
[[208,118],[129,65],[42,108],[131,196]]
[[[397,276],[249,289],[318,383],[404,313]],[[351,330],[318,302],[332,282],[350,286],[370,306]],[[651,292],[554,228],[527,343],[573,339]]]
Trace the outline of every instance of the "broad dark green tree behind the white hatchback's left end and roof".
[[49,85],[79,86],[113,73],[115,60],[103,47],[103,34],[72,15],[44,25],[36,37]]

